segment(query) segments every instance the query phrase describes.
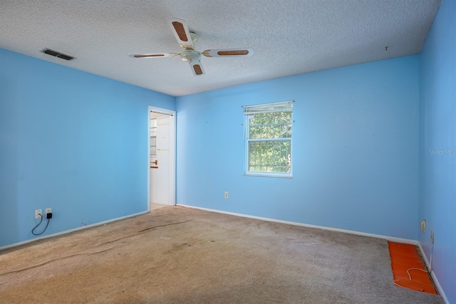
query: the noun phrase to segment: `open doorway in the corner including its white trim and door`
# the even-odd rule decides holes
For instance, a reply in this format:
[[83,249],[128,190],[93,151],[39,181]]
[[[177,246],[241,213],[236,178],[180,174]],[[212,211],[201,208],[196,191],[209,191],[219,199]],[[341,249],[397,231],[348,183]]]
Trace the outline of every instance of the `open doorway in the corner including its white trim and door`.
[[175,111],[149,107],[149,210],[175,202]]

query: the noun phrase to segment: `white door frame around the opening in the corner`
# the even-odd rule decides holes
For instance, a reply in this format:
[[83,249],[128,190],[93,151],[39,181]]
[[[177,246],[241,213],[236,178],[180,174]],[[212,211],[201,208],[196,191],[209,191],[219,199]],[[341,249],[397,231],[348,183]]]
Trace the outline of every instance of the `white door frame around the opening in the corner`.
[[176,204],[176,111],[152,107],[147,109],[147,211],[150,211],[150,112],[170,115],[170,201]]

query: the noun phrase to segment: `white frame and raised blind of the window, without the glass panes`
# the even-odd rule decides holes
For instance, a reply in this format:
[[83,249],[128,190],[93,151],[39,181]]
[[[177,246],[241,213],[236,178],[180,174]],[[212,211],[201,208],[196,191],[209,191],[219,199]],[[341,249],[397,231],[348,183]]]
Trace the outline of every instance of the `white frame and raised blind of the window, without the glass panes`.
[[[244,145],[245,145],[245,155],[244,155],[244,175],[254,176],[254,177],[293,177],[293,103],[294,100],[281,101],[278,103],[263,103],[259,105],[244,105]],[[261,140],[250,140],[250,122],[249,115],[254,113],[261,112],[291,112],[291,137],[281,137],[274,139],[261,139]],[[263,172],[263,171],[249,171],[249,142],[252,141],[290,141],[290,172]]]

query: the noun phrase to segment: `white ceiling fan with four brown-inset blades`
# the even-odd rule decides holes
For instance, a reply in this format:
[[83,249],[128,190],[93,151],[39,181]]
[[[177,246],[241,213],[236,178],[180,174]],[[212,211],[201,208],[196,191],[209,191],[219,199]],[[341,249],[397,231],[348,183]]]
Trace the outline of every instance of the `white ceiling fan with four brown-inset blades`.
[[184,48],[181,53],[144,53],[130,54],[132,58],[163,58],[180,56],[182,61],[190,63],[190,68],[195,76],[204,75],[204,69],[201,64],[201,56],[206,57],[234,57],[234,56],[252,56],[254,51],[252,48],[229,48],[224,50],[206,50],[196,51],[195,42],[198,41],[196,33],[188,30],[187,23],[175,17],[167,19],[171,26],[172,33],[177,39],[177,42]]

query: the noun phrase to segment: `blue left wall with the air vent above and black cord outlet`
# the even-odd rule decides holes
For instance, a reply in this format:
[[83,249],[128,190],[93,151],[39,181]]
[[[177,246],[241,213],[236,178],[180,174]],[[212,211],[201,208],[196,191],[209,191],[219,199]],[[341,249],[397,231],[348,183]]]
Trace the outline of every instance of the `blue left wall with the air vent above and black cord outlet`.
[[35,209],[43,236],[147,210],[147,106],[174,97],[3,49],[0,85],[0,246]]

